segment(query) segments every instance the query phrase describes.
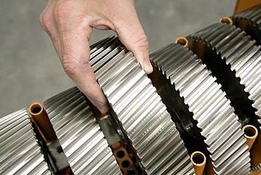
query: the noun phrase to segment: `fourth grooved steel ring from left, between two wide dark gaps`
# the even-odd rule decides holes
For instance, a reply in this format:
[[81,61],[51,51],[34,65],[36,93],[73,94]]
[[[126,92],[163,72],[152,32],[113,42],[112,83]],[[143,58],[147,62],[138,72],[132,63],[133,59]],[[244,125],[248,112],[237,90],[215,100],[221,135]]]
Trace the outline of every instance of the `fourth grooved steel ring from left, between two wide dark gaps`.
[[193,113],[205,138],[215,173],[249,172],[250,158],[241,123],[221,85],[216,83],[207,67],[193,52],[179,44],[169,44],[152,53],[150,58]]

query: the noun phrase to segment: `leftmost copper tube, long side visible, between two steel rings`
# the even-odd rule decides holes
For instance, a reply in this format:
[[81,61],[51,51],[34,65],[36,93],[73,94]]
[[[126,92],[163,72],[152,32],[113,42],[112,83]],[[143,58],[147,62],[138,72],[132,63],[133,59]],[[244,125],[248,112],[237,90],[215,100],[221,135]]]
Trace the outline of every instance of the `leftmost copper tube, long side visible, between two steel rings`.
[[40,103],[33,103],[29,107],[30,119],[39,133],[42,135],[45,143],[50,143],[57,139],[54,128],[47,116],[47,112]]

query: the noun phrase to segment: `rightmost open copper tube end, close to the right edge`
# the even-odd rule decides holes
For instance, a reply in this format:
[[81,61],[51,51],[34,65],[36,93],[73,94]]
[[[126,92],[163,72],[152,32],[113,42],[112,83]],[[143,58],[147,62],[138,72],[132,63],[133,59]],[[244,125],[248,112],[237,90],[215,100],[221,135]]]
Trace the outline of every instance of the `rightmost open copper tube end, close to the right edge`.
[[248,145],[248,151],[250,151],[258,135],[257,128],[253,125],[246,125],[243,126],[243,131],[245,133],[244,136],[246,138],[246,144]]

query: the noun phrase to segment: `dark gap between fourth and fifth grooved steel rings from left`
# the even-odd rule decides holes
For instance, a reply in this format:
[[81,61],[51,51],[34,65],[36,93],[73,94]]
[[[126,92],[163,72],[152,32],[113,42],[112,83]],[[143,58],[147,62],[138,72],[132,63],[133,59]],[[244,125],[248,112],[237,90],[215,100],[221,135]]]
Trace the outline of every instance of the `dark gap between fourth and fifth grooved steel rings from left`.
[[259,128],[258,117],[255,115],[255,109],[252,107],[253,102],[248,99],[249,94],[244,91],[245,86],[240,84],[240,78],[236,78],[236,72],[231,71],[231,66],[226,64],[226,59],[221,59],[221,55],[216,50],[204,46],[204,51],[198,51],[197,45],[202,42],[189,42],[189,49],[198,54],[203,64],[207,65],[207,69],[212,71],[212,76],[217,78],[217,83],[221,84],[222,90],[226,92],[226,96],[231,100],[231,106],[235,109],[242,126],[247,124]]

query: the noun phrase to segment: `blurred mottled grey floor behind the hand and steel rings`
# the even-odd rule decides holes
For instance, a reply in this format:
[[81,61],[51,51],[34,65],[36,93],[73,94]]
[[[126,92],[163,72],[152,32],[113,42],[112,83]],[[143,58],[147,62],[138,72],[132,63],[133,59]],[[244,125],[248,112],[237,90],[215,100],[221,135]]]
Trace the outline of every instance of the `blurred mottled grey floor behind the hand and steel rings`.
[[[74,83],[63,72],[48,35],[39,24],[47,1],[1,1],[0,116],[55,95]],[[135,0],[150,51],[174,42],[223,16],[231,16],[235,0]],[[95,30],[91,43],[113,34]]]

